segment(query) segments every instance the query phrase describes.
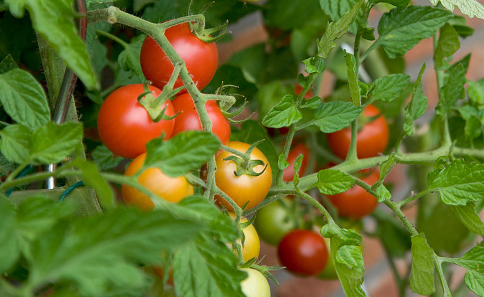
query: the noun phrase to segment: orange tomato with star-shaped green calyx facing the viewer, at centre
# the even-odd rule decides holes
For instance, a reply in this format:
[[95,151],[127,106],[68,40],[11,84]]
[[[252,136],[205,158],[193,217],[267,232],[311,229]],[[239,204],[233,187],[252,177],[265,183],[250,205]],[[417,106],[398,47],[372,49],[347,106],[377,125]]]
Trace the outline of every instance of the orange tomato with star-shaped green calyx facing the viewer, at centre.
[[[227,143],[227,146],[239,152],[245,152],[250,147],[248,143],[239,141],[230,141]],[[217,168],[215,171],[216,186],[232,198],[238,206],[242,207],[248,202],[245,210],[254,208],[266,197],[272,183],[272,171],[266,156],[257,147],[250,154],[250,159],[262,160],[264,163],[264,165],[255,166],[255,172],[262,172],[267,164],[266,170],[258,177],[252,177],[247,174],[236,177],[234,174],[234,171],[237,169],[236,163],[229,160],[224,161],[223,159],[227,158],[227,156],[232,156],[232,154],[223,151],[215,157]],[[225,206],[227,210],[234,211],[232,206],[222,197],[216,195],[215,200],[218,204]]]

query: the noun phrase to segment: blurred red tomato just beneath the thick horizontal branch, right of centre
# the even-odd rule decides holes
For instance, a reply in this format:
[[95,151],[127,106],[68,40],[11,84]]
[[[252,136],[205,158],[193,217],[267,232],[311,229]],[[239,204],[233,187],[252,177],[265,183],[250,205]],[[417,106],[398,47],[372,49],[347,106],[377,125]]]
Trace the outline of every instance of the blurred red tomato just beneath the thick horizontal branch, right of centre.
[[[366,170],[362,174],[368,174],[362,177],[362,181],[373,186],[380,179],[378,170]],[[351,217],[353,219],[360,219],[365,215],[369,215],[376,208],[377,199],[366,192],[360,186],[354,185],[346,192],[337,195],[328,195],[328,199],[337,208],[338,213],[342,217]]]

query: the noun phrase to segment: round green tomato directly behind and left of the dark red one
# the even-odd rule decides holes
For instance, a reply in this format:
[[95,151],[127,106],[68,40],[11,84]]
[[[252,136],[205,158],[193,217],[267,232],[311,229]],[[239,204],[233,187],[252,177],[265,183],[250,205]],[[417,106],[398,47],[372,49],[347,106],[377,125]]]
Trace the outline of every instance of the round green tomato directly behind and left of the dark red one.
[[[288,198],[282,198],[281,200],[286,205],[292,203]],[[302,222],[299,223],[302,224]],[[298,228],[297,221],[279,201],[274,201],[257,210],[254,227],[261,240],[273,246],[277,246],[282,237],[289,231]]]

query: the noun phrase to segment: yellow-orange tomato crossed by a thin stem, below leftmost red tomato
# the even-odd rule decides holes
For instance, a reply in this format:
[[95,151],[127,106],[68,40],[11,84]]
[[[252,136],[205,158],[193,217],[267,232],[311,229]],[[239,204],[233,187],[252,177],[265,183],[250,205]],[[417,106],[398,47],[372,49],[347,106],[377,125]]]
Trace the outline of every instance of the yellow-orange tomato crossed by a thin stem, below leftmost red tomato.
[[[136,159],[131,161],[124,175],[131,177],[136,174],[142,167],[145,159],[146,154],[136,157]],[[158,195],[160,199],[169,202],[178,202],[194,193],[193,186],[188,183],[185,177],[169,177],[161,172],[159,168],[146,169],[139,175],[138,182]],[[154,208],[153,201],[135,188],[123,184],[121,194],[124,202],[127,204],[138,206],[142,210],[152,210]]]

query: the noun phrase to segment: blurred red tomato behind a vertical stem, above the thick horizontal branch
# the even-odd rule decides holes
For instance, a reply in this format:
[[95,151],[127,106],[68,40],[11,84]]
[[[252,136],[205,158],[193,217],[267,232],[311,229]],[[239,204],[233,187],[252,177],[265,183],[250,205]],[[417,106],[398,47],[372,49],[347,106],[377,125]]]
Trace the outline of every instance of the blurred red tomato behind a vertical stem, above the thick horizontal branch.
[[[378,116],[380,110],[374,105],[367,105],[363,111],[366,117]],[[351,142],[349,127],[334,133],[326,134],[328,145],[335,155],[346,158]],[[384,116],[379,116],[371,123],[366,123],[357,133],[356,152],[360,159],[378,156],[384,152],[389,142],[389,128]]]

